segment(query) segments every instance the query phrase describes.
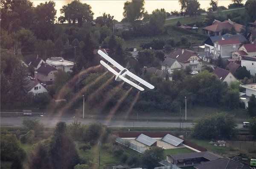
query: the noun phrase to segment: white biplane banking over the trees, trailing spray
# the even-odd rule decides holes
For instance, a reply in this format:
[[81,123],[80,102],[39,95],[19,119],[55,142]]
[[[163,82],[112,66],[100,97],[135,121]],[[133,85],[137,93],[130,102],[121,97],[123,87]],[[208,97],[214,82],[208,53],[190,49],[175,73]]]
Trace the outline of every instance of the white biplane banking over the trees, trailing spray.
[[[146,82],[142,78],[136,76],[132,72],[128,71],[128,69],[125,69],[123,66],[121,66],[119,63],[117,63],[115,60],[113,60],[111,57],[109,57],[107,54],[105,54],[101,50],[98,50],[98,54],[101,55],[108,62],[110,62],[114,67],[116,67],[117,69],[120,70],[120,72],[116,72],[116,70],[114,70],[111,66],[109,66],[108,63],[105,63],[103,60],[100,60],[100,64],[102,64],[102,66],[107,68],[110,72],[112,72],[116,76],[116,78],[115,78],[116,81],[123,80],[126,83],[128,83],[129,85],[134,86],[136,89],[138,89],[140,91],[144,91],[144,89],[141,86],[139,86],[140,84],[143,84],[144,86],[148,87],[149,89],[154,89],[153,85]],[[128,78],[126,78],[125,77],[126,75],[133,78],[137,82],[139,82],[139,84],[136,84],[136,83],[132,82],[131,80],[129,80]]]

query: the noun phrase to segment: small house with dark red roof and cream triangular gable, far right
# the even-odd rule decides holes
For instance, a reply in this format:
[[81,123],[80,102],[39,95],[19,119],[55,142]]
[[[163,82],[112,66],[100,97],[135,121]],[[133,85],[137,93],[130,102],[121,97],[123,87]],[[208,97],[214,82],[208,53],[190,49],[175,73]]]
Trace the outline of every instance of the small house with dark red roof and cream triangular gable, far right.
[[213,73],[216,74],[221,81],[227,82],[228,85],[233,81],[237,81],[236,77],[228,70],[216,67]]

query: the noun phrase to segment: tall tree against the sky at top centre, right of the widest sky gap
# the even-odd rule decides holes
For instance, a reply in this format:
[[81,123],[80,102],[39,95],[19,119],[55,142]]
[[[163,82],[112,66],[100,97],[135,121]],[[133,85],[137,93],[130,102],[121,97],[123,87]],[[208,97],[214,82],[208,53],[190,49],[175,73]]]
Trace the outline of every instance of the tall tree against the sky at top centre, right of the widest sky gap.
[[144,4],[144,0],[132,0],[125,2],[123,16],[134,27],[138,26],[143,19],[143,14],[145,12]]

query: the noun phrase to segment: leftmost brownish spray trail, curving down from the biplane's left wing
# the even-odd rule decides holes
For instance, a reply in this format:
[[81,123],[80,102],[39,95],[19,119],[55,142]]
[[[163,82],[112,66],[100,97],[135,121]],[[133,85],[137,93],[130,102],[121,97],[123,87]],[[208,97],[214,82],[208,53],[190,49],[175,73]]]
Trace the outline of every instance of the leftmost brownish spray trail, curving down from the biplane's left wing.
[[[79,72],[76,74],[72,79],[70,79],[58,92],[56,99],[63,99],[65,95],[67,95],[66,91],[67,89],[70,89],[70,86],[75,86],[76,81],[79,79],[79,76],[83,74],[87,74],[88,72],[95,71],[100,68],[100,65],[97,66],[92,66],[90,68],[85,69],[82,72]],[[71,84],[71,85],[70,85]],[[51,115],[55,111],[56,105],[54,104],[50,109],[49,109],[49,115]]]

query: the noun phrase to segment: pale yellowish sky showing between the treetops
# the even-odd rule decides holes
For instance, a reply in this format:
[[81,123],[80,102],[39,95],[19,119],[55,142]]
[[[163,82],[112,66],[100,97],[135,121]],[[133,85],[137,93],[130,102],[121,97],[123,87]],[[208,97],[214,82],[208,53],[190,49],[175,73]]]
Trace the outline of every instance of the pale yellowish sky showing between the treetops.
[[[44,3],[46,0],[32,0],[34,6]],[[72,0],[53,0],[55,9],[57,10],[57,19],[61,15],[60,9],[67,5]],[[81,3],[87,3],[92,7],[94,13],[93,18],[102,16],[102,13],[111,14],[115,20],[122,20],[123,7],[126,0],[81,0]],[[210,0],[199,0],[200,8],[206,9],[209,7]],[[232,0],[218,0],[218,6],[228,6]],[[154,9],[164,8],[167,12],[180,11],[178,0],[145,0],[145,10],[150,14]]]

